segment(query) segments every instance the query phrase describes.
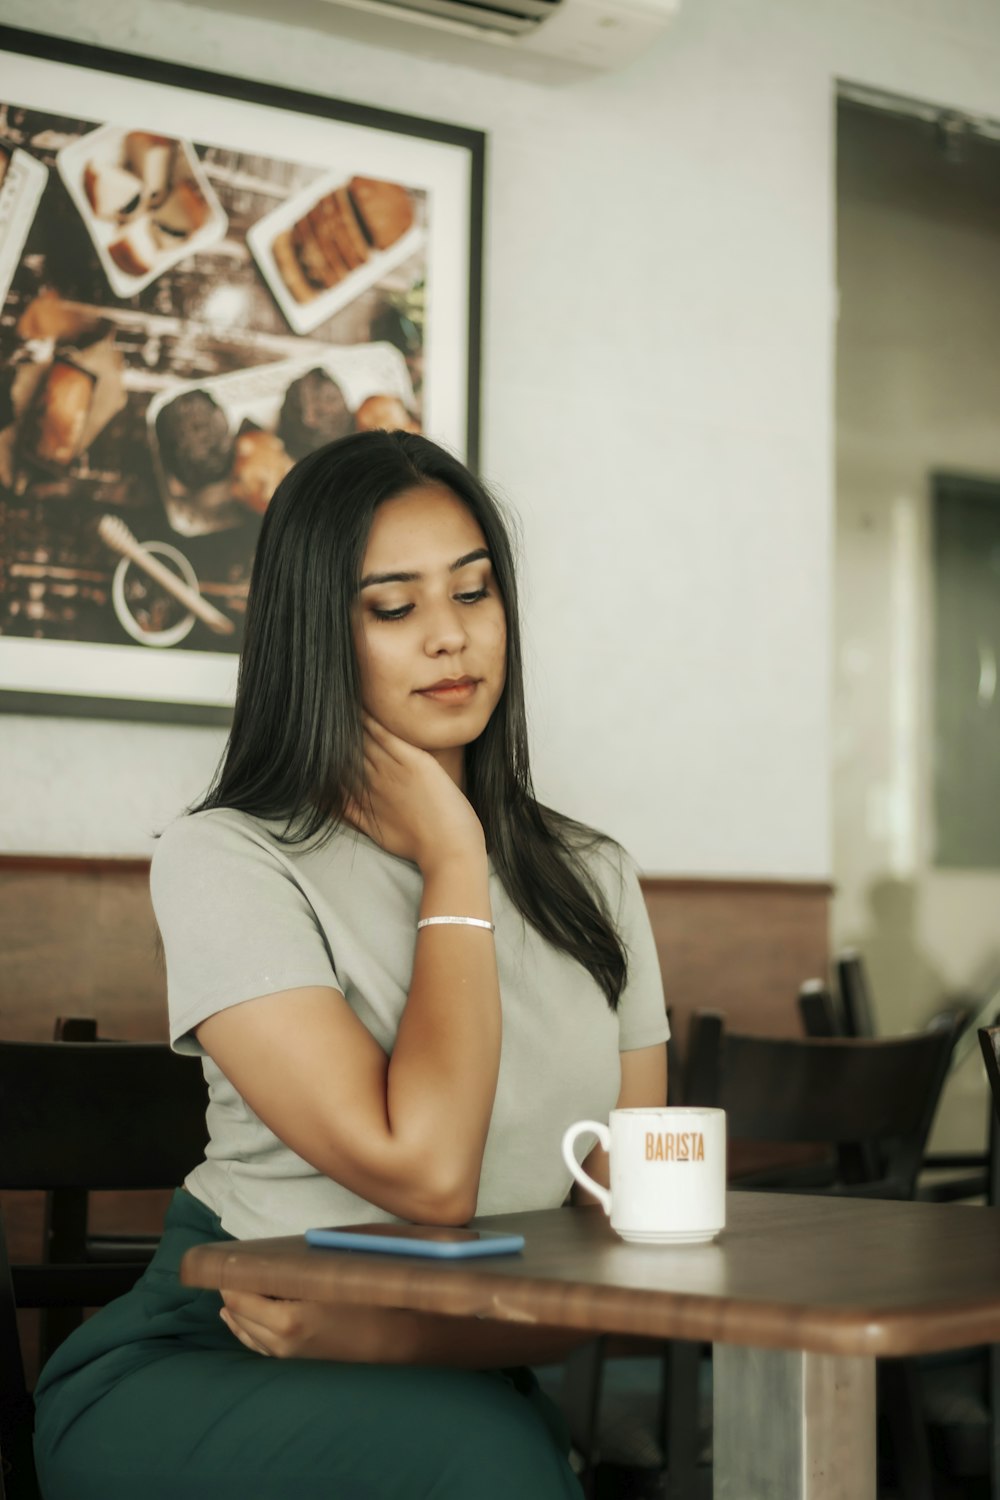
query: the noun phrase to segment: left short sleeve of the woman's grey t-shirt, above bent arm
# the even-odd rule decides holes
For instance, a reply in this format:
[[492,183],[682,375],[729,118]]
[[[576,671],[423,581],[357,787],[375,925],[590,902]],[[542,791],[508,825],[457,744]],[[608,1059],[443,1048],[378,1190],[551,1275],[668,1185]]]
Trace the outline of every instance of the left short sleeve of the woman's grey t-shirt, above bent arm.
[[177,1052],[201,1053],[192,1029],[243,1000],[306,986],[340,988],[289,862],[241,813],[171,824],[156,844],[150,894]]

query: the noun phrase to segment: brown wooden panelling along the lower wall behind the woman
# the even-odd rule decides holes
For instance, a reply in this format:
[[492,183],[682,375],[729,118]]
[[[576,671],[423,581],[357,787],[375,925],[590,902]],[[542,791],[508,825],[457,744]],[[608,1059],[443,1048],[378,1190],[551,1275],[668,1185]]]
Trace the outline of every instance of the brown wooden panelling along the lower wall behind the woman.
[[[798,987],[828,968],[828,885],[651,876],[643,891],[681,1040],[694,1010],[798,1030]],[[166,1035],[148,864],[0,855],[0,1035],[51,1036],[67,1014],[112,1036]]]

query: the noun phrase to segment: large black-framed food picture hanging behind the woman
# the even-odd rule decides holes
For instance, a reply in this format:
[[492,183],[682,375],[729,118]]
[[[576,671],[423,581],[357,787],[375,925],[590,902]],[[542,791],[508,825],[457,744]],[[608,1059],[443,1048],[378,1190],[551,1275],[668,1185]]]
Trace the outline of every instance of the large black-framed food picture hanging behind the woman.
[[484,136],[0,27],[0,710],[225,723],[270,495],[477,462]]

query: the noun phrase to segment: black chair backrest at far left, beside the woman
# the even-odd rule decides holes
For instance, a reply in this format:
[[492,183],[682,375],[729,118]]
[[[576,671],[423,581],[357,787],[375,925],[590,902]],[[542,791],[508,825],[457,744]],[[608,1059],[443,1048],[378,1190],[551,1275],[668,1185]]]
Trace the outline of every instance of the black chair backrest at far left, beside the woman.
[[205,1083],[163,1042],[0,1041],[0,1188],[168,1188],[201,1160]]

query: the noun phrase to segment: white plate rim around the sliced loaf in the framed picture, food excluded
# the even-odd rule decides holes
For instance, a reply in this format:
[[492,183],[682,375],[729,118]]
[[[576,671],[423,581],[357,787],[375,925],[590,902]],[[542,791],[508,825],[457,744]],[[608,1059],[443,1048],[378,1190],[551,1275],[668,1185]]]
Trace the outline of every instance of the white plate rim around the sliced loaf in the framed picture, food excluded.
[[307,302],[298,302],[274,258],[274,242],[288,234],[300,219],[304,219],[315,207],[339,188],[346,188],[349,178],[343,172],[330,172],[310,183],[303,192],[295,194],[286,202],[271,208],[262,219],[252,224],[246,231],[246,243],[253,260],[261,268],[264,280],[271,288],[277,306],[285,314],[289,327],[295,333],[312,333],[321,322],[340,312],[349,302],[354,302],[369,286],[388,276],[390,272],[408,261],[411,255],[424,243],[424,231],[414,222],[399,240],[384,250],[369,248],[367,260],[355,270],[349,270],[340,280],[325,291],[316,291]]

